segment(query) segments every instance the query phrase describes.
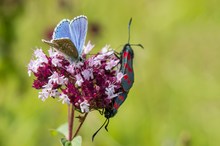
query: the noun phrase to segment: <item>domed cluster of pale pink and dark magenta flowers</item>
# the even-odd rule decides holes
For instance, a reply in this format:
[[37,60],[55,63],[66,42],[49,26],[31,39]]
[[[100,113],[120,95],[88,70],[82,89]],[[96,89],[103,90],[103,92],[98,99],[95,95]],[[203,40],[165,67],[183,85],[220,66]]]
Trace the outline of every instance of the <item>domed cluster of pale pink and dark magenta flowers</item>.
[[109,46],[96,55],[87,55],[93,47],[88,42],[82,61],[78,62],[67,60],[52,48],[49,55],[36,49],[28,74],[36,77],[33,87],[41,90],[38,97],[42,101],[53,97],[72,103],[82,113],[107,107],[119,94],[123,74],[119,72],[119,59]]

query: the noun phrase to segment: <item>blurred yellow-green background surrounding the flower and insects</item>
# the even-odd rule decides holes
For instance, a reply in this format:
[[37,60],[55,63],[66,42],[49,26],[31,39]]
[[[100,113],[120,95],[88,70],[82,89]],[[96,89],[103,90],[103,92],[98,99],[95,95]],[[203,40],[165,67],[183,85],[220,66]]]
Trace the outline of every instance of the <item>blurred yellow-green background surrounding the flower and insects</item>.
[[27,74],[33,50],[48,46],[56,24],[84,14],[87,40],[97,52],[127,42],[135,52],[135,83],[109,132],[89,114],[83,146],[219,146],[220,1],[218,0],[1,0],[0,146],[59,146],[49,134],[67,120],[67,107],[38,99]]

